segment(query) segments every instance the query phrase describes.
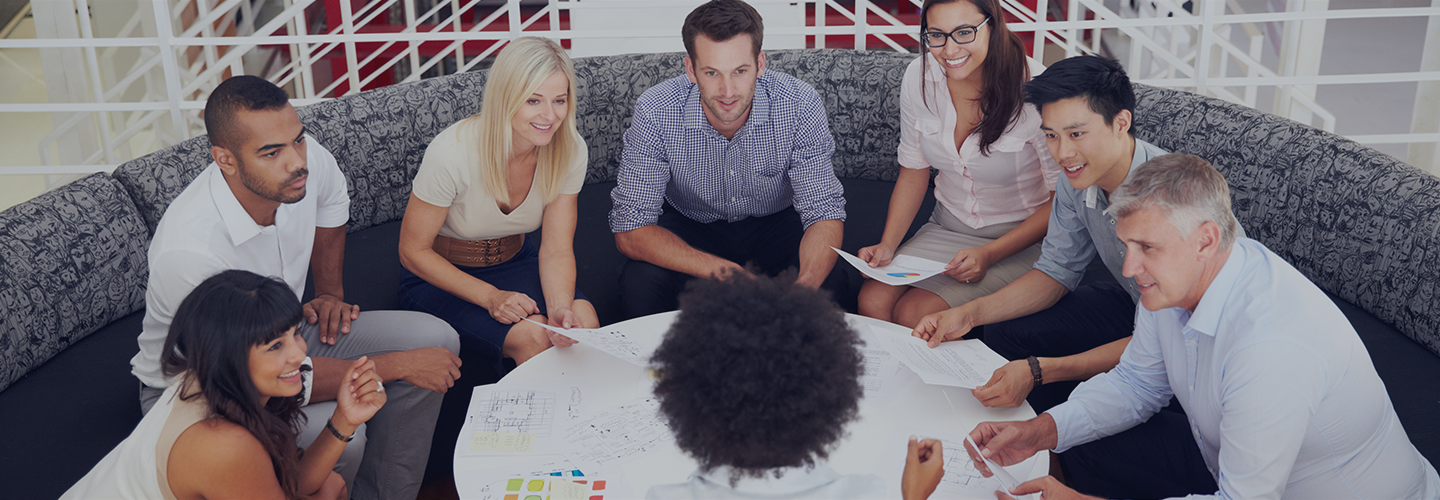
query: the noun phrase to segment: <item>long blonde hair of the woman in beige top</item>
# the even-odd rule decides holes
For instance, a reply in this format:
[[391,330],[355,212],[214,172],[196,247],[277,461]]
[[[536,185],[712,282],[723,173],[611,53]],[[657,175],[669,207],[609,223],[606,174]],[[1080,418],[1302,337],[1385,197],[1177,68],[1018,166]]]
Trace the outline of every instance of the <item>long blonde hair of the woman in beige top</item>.
[[505,163],[514,154],[514,130],[510,120],[520,107],[540,88],[550,75],[563,72],[569,79],[564,120],[550,144],[540,147],[536,159],[536,180],[544,202],[550,203],[560,193],[570,163],[575,161],[585,140],[575,130],[575,65],[559,43],[550,39],[523,36],[514,39],[490,68],[480,112],[465,118],[475,131],[480,147],[480,179],[485,190],[497,202],[510,205],[510,189],[505,182]]

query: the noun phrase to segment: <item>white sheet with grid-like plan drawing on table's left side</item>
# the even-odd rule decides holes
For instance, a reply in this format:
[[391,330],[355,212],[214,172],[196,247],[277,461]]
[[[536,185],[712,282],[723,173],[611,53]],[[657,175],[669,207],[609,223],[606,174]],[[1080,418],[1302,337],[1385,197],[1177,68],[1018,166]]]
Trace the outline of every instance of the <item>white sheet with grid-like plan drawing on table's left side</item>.
[[536,385],[510,388],[484,385],[469,398],[461,435],[468,437],[465,455],[513,455],[557,452],[556,422],[567,425],[579,416],[579,388]]

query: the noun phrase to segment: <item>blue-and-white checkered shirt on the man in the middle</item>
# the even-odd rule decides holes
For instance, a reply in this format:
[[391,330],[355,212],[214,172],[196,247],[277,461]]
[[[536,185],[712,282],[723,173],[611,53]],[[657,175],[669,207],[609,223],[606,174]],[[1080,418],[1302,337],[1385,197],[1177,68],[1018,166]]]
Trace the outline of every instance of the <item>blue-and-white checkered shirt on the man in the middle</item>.
[[611,192],[611,231],[654,225],[662,202],[706,223],[766,216],[791,205],[805,228],[845,220],[845,192],[829,163],[835,138],[812,86],[763,72],[750,117],[733,140],[720,135],[700,107],[700,86],[684,75],[635,102]]

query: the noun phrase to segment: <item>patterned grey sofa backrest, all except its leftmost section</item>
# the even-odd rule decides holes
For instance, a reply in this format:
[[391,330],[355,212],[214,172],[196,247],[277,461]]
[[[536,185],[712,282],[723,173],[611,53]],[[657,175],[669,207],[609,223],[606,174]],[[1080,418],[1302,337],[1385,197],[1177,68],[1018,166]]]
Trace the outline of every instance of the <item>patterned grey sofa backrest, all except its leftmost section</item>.
[[[576,124],[590,147],[586,182],[612,182],[635,99],[684,72],[683,53],[576,59]],[[893,180],[900,81],[910,53],[768,50],[768,68],[811,84],[835,134],[835,173]],[[425,147],[480,108],[488,72],[471,72],[302,107],[310,133],[350,182],[350,231],[399,220]],[[1138,85],[1138,135],[1215,163],[1246,231],[1320,288],[1440,353],[1440,180],[1293,121],[1194,94]],[[209,163],[192,138],[121,166],[115,177],[154,231]]]

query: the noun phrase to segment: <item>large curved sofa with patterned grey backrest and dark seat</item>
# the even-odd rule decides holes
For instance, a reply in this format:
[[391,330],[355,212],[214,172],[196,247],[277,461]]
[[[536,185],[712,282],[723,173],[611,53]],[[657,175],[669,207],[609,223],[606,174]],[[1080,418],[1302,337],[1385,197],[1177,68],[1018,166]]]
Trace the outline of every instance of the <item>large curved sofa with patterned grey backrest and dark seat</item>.
[[[845,249],[878,239],[899,166],[899,85],[914,55],[773,50],[768,68],[825,99],[845,186]],[[616,321],[619,264],[609,190],[635,99],[683,73],[680,53],[576,59],[590,148],[576,229],[577,285]],[[395,308],[399,220],[425,147],[477,111],[487,72],[433,78],[301,107],[350,189],[347,298]],[[1331,294],[1365,341],[1417,448],[1440,463],[1440,179],[1349,140],[1240,105],[1138,85],[1136,134],[1211,160],[1247,233]],[[130,357],[144,316],[145,249],[170,200],[209,164],[202,135],[0,212],[0,491],[56,497],[140,421]],[[929,213],[926,200],[916,226]],[[914,228],[912,228],[913,231]],[[1107,272],[1089,272],[1106,280]],[[858,275],[852,282],[858,287]],[[851,298],[852,300],[852,298]],[[494,380],[469,373],[461,383]],[[467,390],[446,398],[432,471]],[[456,401],[451,401],[456,399]],[[446,425],[446,422],[454,425]],[[449,432],[449,434],[445,434]],[[448,441],[448,442],[446,442]]]

